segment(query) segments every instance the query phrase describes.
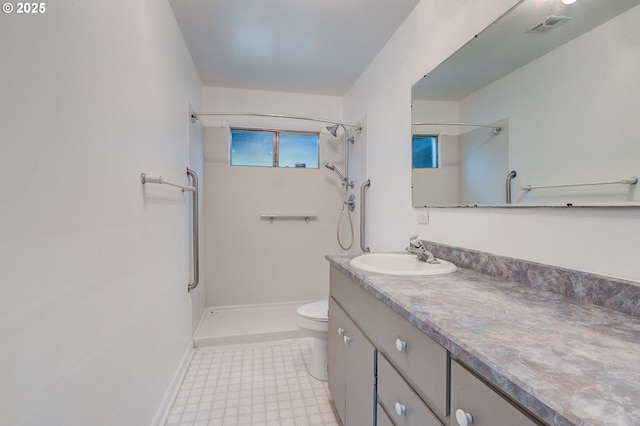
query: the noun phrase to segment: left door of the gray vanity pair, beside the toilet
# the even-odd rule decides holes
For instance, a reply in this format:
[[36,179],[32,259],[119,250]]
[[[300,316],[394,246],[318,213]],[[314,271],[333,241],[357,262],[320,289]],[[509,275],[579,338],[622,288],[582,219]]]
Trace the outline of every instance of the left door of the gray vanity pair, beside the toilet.
[[336,411],[344,424],[346,421],[346,346],[344,344],[344,330],[349,323],[349,317],[338,306],[336,301],[329,298],[329,336],[328,364],[329,364],[329,392],[336,406]]

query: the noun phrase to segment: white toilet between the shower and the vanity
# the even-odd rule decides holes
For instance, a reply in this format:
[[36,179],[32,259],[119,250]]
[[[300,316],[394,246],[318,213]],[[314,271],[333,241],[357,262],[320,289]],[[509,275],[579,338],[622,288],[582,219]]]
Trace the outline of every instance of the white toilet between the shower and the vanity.
[[307,303],[298,308],[298,327],[314,338],[309,374],[318,380],[327,380],[327,336],[329,335],[329,302]]

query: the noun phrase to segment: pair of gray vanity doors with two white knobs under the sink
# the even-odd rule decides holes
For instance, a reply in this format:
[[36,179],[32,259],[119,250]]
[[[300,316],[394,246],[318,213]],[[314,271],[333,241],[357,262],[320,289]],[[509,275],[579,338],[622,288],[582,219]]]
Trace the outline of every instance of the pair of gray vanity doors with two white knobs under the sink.
[[373,425],[375,348],[329,298],[329,391],[345,426]]

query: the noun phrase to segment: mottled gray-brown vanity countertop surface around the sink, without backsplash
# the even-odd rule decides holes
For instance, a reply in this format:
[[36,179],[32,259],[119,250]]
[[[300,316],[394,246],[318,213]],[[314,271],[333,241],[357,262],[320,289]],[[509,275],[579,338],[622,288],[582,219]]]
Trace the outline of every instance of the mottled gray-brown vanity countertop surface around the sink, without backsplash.
[[550,425],[640,425],[640,318],[459,268],[401,277],[329,262]]

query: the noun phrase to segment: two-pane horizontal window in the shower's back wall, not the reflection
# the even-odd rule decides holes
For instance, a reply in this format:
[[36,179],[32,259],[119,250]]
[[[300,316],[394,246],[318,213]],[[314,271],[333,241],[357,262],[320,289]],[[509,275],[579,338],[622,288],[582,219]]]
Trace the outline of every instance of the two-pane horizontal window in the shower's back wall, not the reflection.
[[231,165],[319,167],[319,133],[231,129]]

